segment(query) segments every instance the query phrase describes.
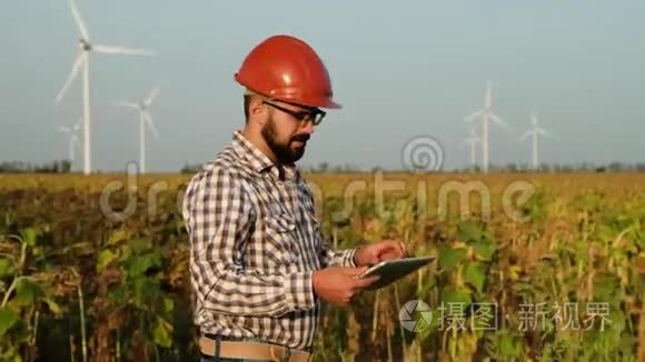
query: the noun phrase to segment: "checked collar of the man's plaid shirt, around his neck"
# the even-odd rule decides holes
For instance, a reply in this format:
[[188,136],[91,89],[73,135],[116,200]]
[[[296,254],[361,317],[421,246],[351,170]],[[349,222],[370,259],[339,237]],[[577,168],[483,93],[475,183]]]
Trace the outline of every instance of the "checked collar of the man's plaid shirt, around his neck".
[[254,171],[261,173],[269,170],[274,175],[280,180],[292,180],[298,178],[299,173],[294,163],[276,164],[271,159],[262,153],[255,144],[252,144],[239,130],[232,134],[232,145],[236,151],[249,161]]

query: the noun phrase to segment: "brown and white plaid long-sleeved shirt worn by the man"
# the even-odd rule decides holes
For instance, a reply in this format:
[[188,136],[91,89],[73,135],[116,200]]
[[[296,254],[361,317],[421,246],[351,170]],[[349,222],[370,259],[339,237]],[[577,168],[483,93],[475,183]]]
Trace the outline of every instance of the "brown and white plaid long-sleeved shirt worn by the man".
[[236,131],[188,184],[183,219],[200,331],[309,349],[320,316],[312,271],[356,267],[356,250],[324,240],[296,168],[278,168]]

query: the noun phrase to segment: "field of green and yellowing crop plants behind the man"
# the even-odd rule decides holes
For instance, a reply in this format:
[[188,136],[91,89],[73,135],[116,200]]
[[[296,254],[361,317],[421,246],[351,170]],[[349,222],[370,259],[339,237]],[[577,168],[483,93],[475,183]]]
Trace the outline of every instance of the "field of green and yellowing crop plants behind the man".
[[[645,174],[305,177],[336,248],[439,257],[326,308],[317,361],[645,360]],[[196,360],[188,180],[0,174],[0,360]]]

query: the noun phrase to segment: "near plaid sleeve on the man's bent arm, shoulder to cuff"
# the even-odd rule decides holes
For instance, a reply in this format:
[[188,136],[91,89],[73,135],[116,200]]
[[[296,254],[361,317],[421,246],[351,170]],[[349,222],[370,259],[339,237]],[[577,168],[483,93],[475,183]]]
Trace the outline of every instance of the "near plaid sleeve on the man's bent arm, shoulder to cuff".
[[315,306],[311,272],[280,275],[242,267],[251,205],[238,177],[212,169],[190,183],[183,218],[194,290],[204,308],[229,314],[280,316]]

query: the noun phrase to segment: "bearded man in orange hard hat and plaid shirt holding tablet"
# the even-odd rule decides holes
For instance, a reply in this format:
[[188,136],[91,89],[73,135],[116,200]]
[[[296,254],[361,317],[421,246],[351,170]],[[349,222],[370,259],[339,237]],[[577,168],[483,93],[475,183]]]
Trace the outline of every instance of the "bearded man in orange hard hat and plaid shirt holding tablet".
[[307,361],[320,300],[347,305],[376,280],[357,278],[367,265],[405,249],[385,240],[336,251],[321,235],[295,167],[320,108],[340,108],[316,52],[271,37],[235,79],[246,88],[245,128],[192,178],[183,203],[202,361]]

